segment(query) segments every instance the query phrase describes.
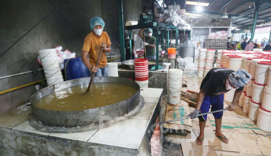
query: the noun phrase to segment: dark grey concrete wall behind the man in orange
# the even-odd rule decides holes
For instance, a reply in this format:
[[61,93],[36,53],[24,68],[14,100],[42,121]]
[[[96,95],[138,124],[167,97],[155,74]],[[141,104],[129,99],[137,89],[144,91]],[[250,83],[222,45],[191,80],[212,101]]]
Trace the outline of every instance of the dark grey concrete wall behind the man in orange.
[[[141,12],[141,5],[138,0],[133,0],[133,5],[130,2],[124,1],[127,10],[133,10],[126,11],[129,14],[125,17],[134,20]],[[91,32],[90,19],[94,16],[105,21],[104,31],[111,39],[111,53],[120,54],[117,1],[4,0],[0,8],[0,77],[41,68],[37,63],[39,49],[61,45],[80,57],[84,38]],[[138,15],[132,16],[134,12]],[[0,79],[0,91],[41,79],[44,79],[42,71]],[[36,92],[34,86],[0,94],[0,114],[28,102]]]

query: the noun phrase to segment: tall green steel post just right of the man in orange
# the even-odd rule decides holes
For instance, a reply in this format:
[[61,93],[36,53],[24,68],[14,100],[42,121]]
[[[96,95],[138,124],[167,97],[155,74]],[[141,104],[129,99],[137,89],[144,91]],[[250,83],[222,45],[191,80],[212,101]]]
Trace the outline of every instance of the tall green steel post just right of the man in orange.
[[123,27],[122,0],[118,0],[118,16],[119,16],[119,31],[120,31],[120,55],[121,55],[121,61],[125,61],[126,49],[124,47],[124,27]]

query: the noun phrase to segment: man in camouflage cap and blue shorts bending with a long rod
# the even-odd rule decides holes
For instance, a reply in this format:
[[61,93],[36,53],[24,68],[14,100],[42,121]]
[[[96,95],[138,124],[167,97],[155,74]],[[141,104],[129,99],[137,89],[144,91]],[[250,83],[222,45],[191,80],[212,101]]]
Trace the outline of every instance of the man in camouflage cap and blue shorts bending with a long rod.
[[[235,105],[238,105],[238,100],[246,85],[251,79],[251,75],[244,69],[239,68],[233,71],[227,68],[214,68],[210,70],[202,80],[200,92],[197,97],[197,105],[195,111],[191,112],[188,116],[191,119],[196,118],[195,115],[199,113],[217,111],[223,109],[224,94],[231,89],[236,89],[234,93],[233,102],[227,107],[229,111],[234,111]],[[221,132],[222,112],[213,113],[215,118],[215,135],[221,139],[222,142],[228,143],[228,138]],[[196,139],[196,143],[203,144],[204,128],[207,120],[207,115],[198,116],[200,133]]]

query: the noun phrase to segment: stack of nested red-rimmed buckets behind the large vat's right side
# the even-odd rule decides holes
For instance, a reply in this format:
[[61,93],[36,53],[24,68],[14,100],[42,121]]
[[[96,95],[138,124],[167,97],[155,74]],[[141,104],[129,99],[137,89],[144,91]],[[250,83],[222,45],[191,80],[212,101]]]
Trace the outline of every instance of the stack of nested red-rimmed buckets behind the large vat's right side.
[[140,87],[148,87],[149,84],[149,68],[147,59],[135,59],[135,82]]

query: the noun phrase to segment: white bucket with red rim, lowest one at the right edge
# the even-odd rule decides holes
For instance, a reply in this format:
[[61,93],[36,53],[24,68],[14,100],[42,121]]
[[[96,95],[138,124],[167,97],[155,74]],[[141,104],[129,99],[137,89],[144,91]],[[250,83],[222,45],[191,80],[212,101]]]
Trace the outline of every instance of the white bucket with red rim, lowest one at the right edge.
[[262,107],[259,109],[259,115],[257,119],[257,127],[267,131],[271,132],[271,112],[264,110]]

